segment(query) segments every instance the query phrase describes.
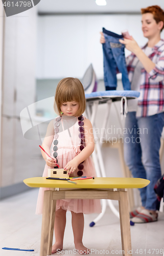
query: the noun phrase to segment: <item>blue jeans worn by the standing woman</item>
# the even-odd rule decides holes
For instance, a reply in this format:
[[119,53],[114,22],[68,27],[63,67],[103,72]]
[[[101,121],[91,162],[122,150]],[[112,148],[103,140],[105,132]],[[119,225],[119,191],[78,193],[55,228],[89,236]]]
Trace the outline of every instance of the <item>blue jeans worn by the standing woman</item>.
[[164,125],[164,113],[136,118],[129,112],[124,131],[124,158],[134,178],[150,180],[147,187],[139,188],[142,205],[156,210],[154,185],[161,176],[159,162],[160,137]]

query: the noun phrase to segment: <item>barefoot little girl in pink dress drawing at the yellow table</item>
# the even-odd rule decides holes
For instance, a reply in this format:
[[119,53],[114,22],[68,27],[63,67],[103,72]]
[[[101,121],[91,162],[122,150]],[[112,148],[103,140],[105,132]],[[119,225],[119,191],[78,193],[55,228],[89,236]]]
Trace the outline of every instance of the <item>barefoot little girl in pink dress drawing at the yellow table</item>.
[[[54,168],[57,164],[60,168],[68,170],[69,177],[96,176],[90,155],[94,151],[95,143],[92,133],[92,125],[82,113],[85,111],[85,94],[82,83],[77,78],[64,78],[57,86],[54,110],[60,116],[52,120],[48,125],[42,147],[54,158],[47,158],[41,154],[46,162],[43,177],[47,177],[48,168]],[[50,148],[52,146],[52,153]],[[42,214],[44,190],[40,188],[36,214]],[[75,248],[83,253],[89,250],[83,245],[83,214],[101,212],[101,204],[98,199],[69,199],[57,200],[55,215],[55,244],[52,253],[63,248],[64,230],[66,224],[66,211],[72,213],[72,227],[74,233]],[[80,253],[81,253],[80,252]]]

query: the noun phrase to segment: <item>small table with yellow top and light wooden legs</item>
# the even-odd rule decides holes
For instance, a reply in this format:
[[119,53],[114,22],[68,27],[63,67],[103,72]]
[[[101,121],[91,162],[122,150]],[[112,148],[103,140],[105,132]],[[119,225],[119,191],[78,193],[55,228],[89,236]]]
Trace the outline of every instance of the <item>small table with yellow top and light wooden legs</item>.
[[128,195],[126,188],[142,188],[150,181],[139,178],[95,178],[77,180],[77,184],[62,180],[35,177],[24,180],[30,187],[48,187],[44,191],[40,256],[51,255],[57,199],[110,199],[119,201],[122,253],[131,250]]

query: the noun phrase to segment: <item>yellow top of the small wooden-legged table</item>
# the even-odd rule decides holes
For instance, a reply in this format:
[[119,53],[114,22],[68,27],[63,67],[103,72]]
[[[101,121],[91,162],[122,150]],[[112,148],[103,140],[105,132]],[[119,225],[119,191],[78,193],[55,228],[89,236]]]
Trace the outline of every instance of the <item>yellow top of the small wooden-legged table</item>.
[[29,187],[62,187],[62,188],[142,188],[150,181],[139,178],[95,178],[88,180],[76,180],[73,184],[63,180],[46,180],[45,177],[25,179],[24,183]]

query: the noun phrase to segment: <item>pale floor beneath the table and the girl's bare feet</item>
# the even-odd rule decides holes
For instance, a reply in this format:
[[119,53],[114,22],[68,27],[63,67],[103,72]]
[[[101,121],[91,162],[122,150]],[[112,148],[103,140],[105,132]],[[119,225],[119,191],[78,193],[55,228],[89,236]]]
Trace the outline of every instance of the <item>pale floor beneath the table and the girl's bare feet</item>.
[[[41,216],[35,215],[38,189],[20,194],[0,202],[0,255],[39,256]],[[97,254],[122,255],[120,221],[109,207],[104,217],[94,226],[89,223],[97,215],[85,215],[83,243]],[[132,253],[129,255],[164,255],[164,214],[159,212],[159,220],[148,224],[131,226]],[[2,247],[34,249],[34,252],[9,251]],[[76,254],[71,227],[71,214],[67,213],[67,224],[62,253]]]

